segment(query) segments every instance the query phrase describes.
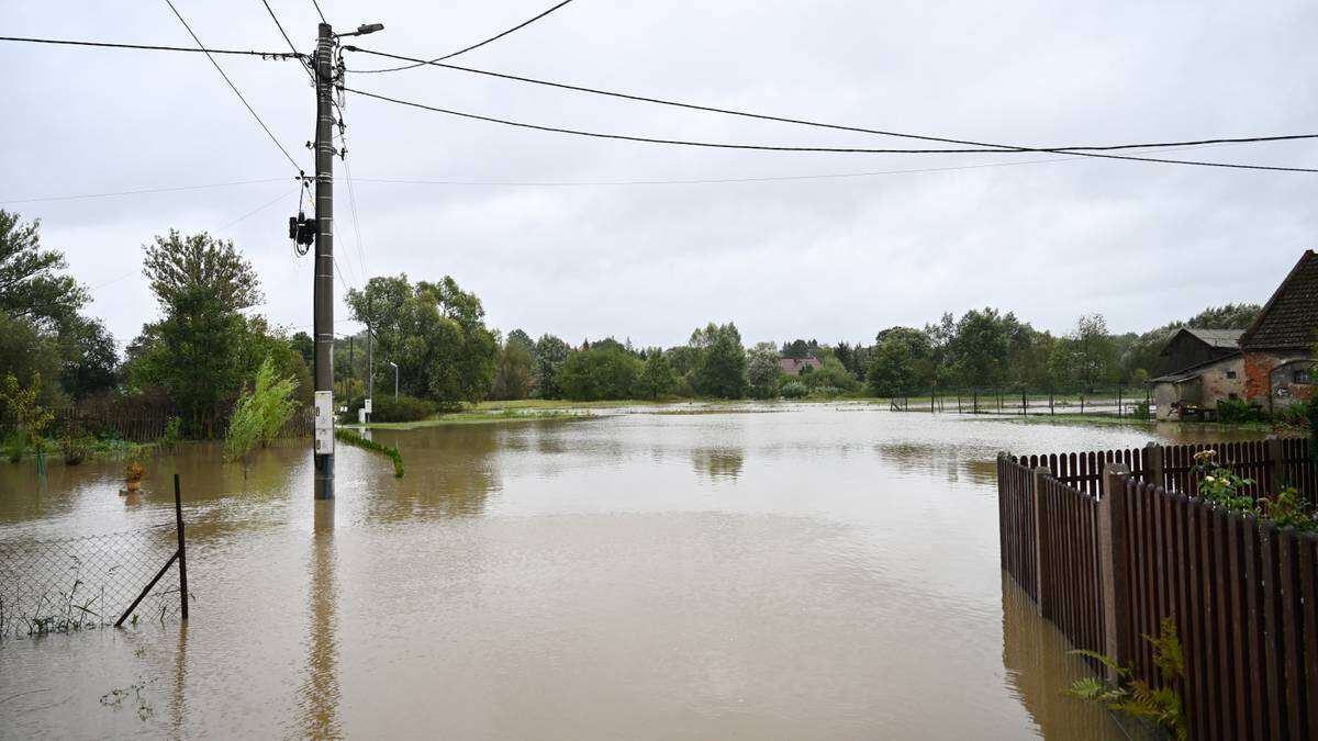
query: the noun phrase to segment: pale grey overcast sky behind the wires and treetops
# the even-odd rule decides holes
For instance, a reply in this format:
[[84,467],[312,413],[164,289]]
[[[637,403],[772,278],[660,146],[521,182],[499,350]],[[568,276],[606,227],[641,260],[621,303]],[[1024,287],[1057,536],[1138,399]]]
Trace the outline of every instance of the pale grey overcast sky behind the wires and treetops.
[[[311,0],[270,3],[299,49],[311,50]],[[260,0],[175,4],[211,46],[286,49]],[[424,57],[550,4],[322,0],[337,30],[385,24],[356,44]],[[191,44],[163,1],[3,7],[4,36]],[[1318,132],[1314,28],[1318,4],[1302,0],[576,0],[453,62],[866,128],[1061,146]],[[304,142],[315,100],[304,73],[293,62],[219,61],[311,171]],[[349,69],[380,66],[391,62],[348,55]],[[67,253],[92,289],[90,312],[119,340],[157,314],[141,245],[171,227],[233,239],[261,274],[261,311],[289,327],[311,323],[311,260],[295,257],[286,239],[295,173],[203,55],[0,44],[0,206],[42,220],[43,243]],[[348,82],[600,132],[920,146],[432,67]],[[1056,154],[692,149],[513,129],[351,95],[345,119],[361,229],[358,245],[336,162],[336,256],[347,283],[451,274],[481,298],[492,327],[571,341],[616,335],[671,345],[709,320],[734,320],[747,343],[871,341],[892,324],[982,306],[1054,332],[1095,311],[1114,331],[1143,331],[1211,305],[1264,302],[1318,243],[1315,174]],[[1318,167],[1318,144],[1305,141],[1164,156]],[[879,174],[370,182],[844,173]],[[262,179],[274,182],[16,203]]]

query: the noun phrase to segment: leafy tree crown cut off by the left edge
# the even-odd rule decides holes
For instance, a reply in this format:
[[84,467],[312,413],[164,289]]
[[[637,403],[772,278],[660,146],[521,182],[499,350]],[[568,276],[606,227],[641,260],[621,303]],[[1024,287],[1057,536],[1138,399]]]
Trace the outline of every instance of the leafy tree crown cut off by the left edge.
[[87,291],[61,273],[65,254],[41,249],[41,222],[0,210],[0,311],[53,331],[76,318]]

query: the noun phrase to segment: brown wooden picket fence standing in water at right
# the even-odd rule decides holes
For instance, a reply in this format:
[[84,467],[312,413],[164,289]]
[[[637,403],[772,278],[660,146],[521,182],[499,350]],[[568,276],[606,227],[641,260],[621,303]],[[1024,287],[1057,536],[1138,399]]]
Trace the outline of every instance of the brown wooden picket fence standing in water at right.
[[1102,460],[1093,492],[1031,468],[1040,456],[999,456],[1003,568],[1072,645],[1155,684],[1140,637],[1172,617],[1193,738],[1318,741],[1318,537],[1143,481],[1108,452],[1045,456],[1075,476]]

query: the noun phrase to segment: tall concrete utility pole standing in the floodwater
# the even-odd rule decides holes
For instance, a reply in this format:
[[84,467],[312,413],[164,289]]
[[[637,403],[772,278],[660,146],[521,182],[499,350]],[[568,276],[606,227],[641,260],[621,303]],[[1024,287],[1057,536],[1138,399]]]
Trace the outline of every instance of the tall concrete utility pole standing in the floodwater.
[[315,458],[314,496],[333,498],[333,34],[320,24],[316,37],[316,260]]

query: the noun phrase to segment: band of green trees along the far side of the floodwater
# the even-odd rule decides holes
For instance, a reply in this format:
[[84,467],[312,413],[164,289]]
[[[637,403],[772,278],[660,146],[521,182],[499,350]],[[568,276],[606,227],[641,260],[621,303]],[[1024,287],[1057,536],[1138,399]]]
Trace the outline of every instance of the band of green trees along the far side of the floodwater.
[[[183,434],[214,436],[265,363],[275,380],[289,381],[297,403],[310,403],[311,336],[272,326],[254,311],[264,302],[261,283],[232,241],[170,231],[144,245],[142,274],[159,318],[145,323],[123,353],[104,324],[86,315],[87,289],[65,274],[66,268],[58,249],[42,247],[38,222],[22,223],[0,211],[0,435],[30,427],[33,405],[76,403],[169,409],[179,417]],[[1253,305],[1227,305],[1123,335],[1111,334],[1095,314],[1053,335],[987,307],[960,318],[944,314],[920,328],[888,327],[873,343],[795,339],[750,347],[734,323],[712,322],[692,331],[687,343],[663,348],[614,338],[572,344],[522,330],[505,335],[486,326],[480,298],[448,276],[415,282],[406,274],[373,277],[349,290],[345,301],[351,318],[369,330],[336,343],[336,397],[365,396],[369,331],[373,396],[391,397],[389,363],[395,363],[401,394],[426,409],[486,398],[1086,390],[1140,384],[1172,370],[1162,367],[1159,352],[1181,326],[1244,328],[1259,311]],[[784,372],[784,359],[801,361],[799,372]]]

